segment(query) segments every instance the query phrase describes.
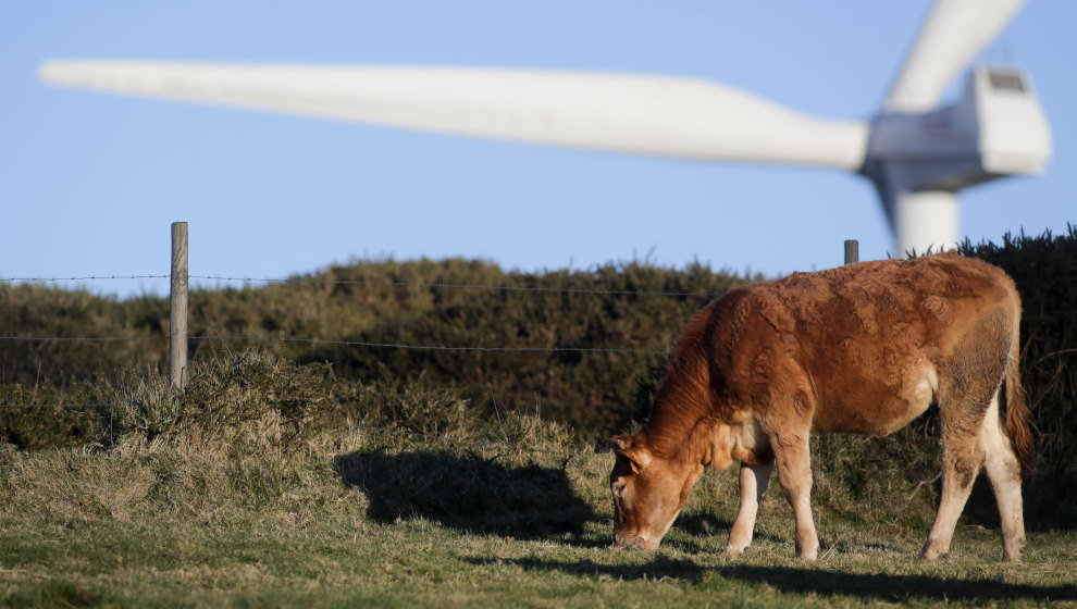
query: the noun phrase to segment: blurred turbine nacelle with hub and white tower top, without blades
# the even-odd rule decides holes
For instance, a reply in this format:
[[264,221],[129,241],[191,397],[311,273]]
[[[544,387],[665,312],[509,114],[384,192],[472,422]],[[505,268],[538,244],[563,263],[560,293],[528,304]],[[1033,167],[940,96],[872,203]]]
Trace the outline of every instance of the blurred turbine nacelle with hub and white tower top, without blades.
[[954,104],[877,116],[861,173],[879,191],[898,252],[923,253],[958,240],[957,190],[1039,173],[1050,156],[1051,130],[1027,76],[980,66]]

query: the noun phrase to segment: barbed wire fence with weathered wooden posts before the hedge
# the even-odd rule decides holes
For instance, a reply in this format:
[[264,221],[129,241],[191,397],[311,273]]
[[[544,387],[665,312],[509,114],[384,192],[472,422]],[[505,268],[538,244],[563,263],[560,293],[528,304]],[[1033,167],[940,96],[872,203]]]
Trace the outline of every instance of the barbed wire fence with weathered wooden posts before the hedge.
[[[642,348],[586,348],[586,347],[516,347],[516,346],[448,346],[448,345],[408,345],[408,344],[397,344],[397,343],[376,343],[376,341],[358,341],[358,340],[332,340],[332,339],[319,339],[319,338],[300,338],[300,337],[270,337],[270,336],[191,336],[188,333],[188,291],[189,291],[189,281],[195,279],[207,279],[207,281],[224,281],[224,282],[245,282],[245,283],[278,283],[278,284],[302,284],[302,283],[318,283],[318,284],[348,284],[348,285],[364,285],[364,286],[406,286],[406,287],[438,287],[438,288],[454,288],[454,289],[487,289],[487,290],[506,290],[506,291],[530,291],[530,293],[565,293],[565,294],[596,294],[596,295],[609,295],[609,296],[674,296],[674,297],[718,297],[721,293],[690,293],[690,291],[646,291],[646,290],[598,290],[598,289],[560,289],[560,288],[543,288],[543,287],[522,287],[522,286],[492,286],[492,285],[466,285],[466,284],[424,284],[424,283],[404,283],[404,282],[336,282],[336,281],[306,281],[306,279],[252,279],[249,277],[226,277],[226,276],[212,276],[212,275],[190,275],[188,270],[188,247],[187,247],[187,223],[186,222],[174,222],[171,226],[172,228],[172,256],[171,256],[171,273],[166,276],[164,275],[132,275],[132,276],[116,276],[112,275],[111,278],[169,278],[170,279],[170,314],[169,314],[169,378],[170,383],[177,387],[183,388],[188,380],[188,361],[187,361],[187,346],[190,340],[243,340],[243,341],[281,341],[281,343],[305,343],[310,345],[334,345],[334,346],[348,346],[348,347],[364,347],[364,348],[389,348],[389,349],[424,349],[424,350],[437,350],[437,351],[470,351],[470,352],[595,352],[595,353],[645,353],[645,355],[667,355],[667,350],[663,349],[642,349]],[[844,254],[845,263],[856,262],[858,259],[858,244],[856,240],[846,240],[844,243]],[[53,278],[22,278],[22,281],[78,281],[87,278],[109,278],[109,276],[100,277],[53,277]],[[8,282],[16,279],[5,279]],[[109,341],[109,340],[151,340],[151,337],[48,337],[48,336],[4,336],[0,337],[2,340],[39,340],[39,341]],[[39,406],[39,405],[0,405],[4,408],[17,408],[23,406]],[[89,407],[92,405],[79,405],[81,407]]]

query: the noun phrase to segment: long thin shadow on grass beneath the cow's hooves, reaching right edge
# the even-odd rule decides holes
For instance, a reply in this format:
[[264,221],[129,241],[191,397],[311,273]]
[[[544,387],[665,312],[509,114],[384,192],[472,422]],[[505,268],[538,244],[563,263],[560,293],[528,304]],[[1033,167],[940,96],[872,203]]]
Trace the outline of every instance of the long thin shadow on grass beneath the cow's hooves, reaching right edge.
[[942,580],[928,575],[846,573],[793,567],[731,566],[704,568],[691,560],[656,557],[646,564],[598,564],[590,560],[562,562],[523,558],[517,560],[469,559],[473,564],[512,563],[525,571],[556,571],[586,577],[607,575],[617,580],[680,580],[705,588],[720,589],[730,582],[766,584],[783,594],[855,596],[884,602],[909,600],[1030,600],[1074,601],[1077,586],[1035,586],[996,580]]

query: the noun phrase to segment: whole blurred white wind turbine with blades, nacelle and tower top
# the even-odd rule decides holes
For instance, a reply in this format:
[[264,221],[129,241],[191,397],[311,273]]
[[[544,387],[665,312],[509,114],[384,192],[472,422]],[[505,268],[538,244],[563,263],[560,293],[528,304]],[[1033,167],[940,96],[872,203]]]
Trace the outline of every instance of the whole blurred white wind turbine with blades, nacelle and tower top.
[[150,61],[53,61],[44,80],[450,134],[710,161],[858,173],[899,252],[960,240],[957,191],[1042,170],[1051,133],[1028,78],[975,67],[950,82],[1024,0],[938,0],[870,120],[830,121],[726,85],[553,71]]

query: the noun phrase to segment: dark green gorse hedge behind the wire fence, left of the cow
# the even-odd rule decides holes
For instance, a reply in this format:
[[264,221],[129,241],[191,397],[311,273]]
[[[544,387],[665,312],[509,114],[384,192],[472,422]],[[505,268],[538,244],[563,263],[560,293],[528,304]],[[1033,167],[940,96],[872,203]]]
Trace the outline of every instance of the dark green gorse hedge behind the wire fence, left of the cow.
[[[209,358],[261,347],[265,339],[289,340],[282,345],[288,357],[332,362],[341,378],[425,375],[458,387],[483,415],[536,405],[544,418],[605,432],[624,424],[637,381],[664,362],[661,351],[692,312],[745,281],[698,264],[673,271],[633,262],[530,274],[465,260],[359,262],[283,284],[194,291],[189,325],[199,338],[190,351],[194,359]],[[2,383],[69,386],[114,376],[135,362],[160,368],[168,358],[168,316],[164,298],[116,301],[0,286],[0,336],[141,338],[0,340]],[[503,348],[508,350],[496,350]],[[564,350],[528,350],[550,348]]]

